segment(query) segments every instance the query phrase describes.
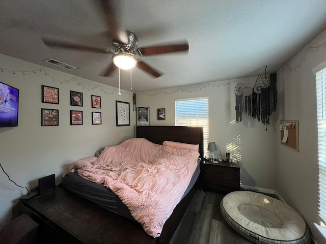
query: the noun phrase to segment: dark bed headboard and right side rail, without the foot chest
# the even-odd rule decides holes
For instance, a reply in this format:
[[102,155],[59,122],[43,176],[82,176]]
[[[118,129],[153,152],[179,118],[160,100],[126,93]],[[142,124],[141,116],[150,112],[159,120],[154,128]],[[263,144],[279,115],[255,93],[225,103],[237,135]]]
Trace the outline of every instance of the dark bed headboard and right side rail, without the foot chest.
[[[164,141],[177,141],[188,144],[199,144],[200,158],[204,154],[204,134],[202,127],[186,127],[186,126],[138,126],[136,128],[137,137],[145,138],[153,143],[162,144]],[[197,179],[199,181],[199,179]],[[153,243],[168,244],[177,229],[185,211],[192,201],[196,186],[179,202],[172,212],[170,218],[163,226],[160,237],[155,238]]]

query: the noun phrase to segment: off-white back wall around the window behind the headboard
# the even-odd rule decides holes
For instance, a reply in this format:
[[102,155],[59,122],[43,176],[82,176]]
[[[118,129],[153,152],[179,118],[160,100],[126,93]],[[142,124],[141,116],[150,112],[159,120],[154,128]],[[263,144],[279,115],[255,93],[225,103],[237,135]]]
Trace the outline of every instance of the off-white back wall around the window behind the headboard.
[[[240,82],[253,85],[257,77]],[[243,185],[275,189],[277,114],[271,115],[270,125],[243,114],[241,123],[235,122],[234,88],[238,80],[227,80],[137,93],[137,107],[150,107],[151,126],[175,125],[175,99],[209,97],[209,141],[216,142],[225,158],[227,148],[232,155],[239,153]],[[246,86],[246,85],[245,85]],[[157,120],[157,108],[166,108],[166,120]]]

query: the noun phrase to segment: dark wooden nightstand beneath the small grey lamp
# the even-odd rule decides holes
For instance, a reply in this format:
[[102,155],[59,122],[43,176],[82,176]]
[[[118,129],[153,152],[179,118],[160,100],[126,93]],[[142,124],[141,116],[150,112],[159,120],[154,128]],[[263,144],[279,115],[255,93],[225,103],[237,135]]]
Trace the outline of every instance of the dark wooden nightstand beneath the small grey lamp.
[[202,161],[201,182],[204,191],[229,193],[240,189],[240,167],[231,162]]

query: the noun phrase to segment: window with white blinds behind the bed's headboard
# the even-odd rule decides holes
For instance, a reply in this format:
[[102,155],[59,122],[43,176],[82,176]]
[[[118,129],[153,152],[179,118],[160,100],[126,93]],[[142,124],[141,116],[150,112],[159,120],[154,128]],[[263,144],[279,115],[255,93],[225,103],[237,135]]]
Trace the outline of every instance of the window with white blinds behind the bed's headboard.
[[176,126],[203,127],[204,154],[208,147],[208,124],[208,97],[175,100]]

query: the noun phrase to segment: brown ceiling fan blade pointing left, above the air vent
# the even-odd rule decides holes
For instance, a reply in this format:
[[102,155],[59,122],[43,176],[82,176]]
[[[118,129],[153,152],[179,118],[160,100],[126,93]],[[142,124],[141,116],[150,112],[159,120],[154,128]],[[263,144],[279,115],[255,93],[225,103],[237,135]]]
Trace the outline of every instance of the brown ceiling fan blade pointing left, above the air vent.
[[46,38],[42,38],[42,41],[46,46],[54,47],[54,48],[66,48],[66,49],[74,49],[78,51],[87,51],[87,52],[99,52],[99,53],[111,53],[109,50],[104,48],[98,48],[98,47],[90,47],[86,45],[80,45],[75,43],[69,43],[69,42],[61,42],[61,41],[55,41],[50,40]]

